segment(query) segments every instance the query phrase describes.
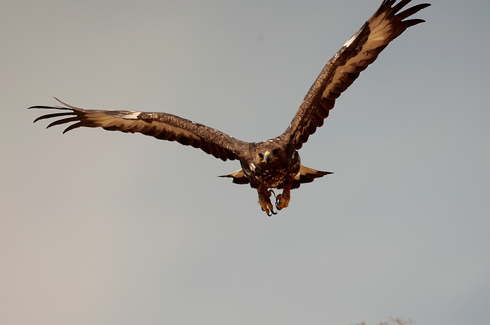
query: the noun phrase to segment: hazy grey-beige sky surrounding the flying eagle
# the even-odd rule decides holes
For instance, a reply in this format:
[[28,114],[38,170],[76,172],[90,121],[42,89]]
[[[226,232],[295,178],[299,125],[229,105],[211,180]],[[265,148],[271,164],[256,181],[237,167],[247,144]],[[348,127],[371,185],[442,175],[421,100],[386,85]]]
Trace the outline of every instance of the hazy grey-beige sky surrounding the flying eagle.
[[334,174],[270,218],[236,161],[25,109],[268,139],[380,2],[2,1],[0,323],[488,322],[488,0],[429,1],[299,151]]

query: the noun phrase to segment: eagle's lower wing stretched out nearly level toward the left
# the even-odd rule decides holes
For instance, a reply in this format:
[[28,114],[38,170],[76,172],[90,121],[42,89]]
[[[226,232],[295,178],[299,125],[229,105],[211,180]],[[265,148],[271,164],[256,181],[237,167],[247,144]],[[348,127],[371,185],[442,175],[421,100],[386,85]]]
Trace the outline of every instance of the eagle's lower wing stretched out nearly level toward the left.
[[29,108],[49,108],[63,111],[39,116],[34,122],[52,117],[62,118],[53,121],[47,127],[76,122],[66,127],[63,133],[80,126],[102,127],[110,131],[129,133],[138,132],[157,139],[177,141],[183,145],[200,148],[202,151],[224,161],[239,158],[240,153],[248,146],[247,142],[237,140],[214,128],[168,113],[81,109],[55,99],[66,107],[32,106]]

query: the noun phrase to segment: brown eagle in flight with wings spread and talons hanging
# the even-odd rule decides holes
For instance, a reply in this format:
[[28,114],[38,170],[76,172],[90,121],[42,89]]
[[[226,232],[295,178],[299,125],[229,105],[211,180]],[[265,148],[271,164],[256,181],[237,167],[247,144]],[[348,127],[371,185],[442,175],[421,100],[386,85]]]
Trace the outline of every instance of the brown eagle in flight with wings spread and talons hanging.
[[[235,184],[250,184],[258,192],[258,203],[268,216],[288,206],[290,190],[302,183],[330,174],[301,165],[298,150],[323,125],[335,99],[352,84],[390,41],[406,28],[424,22],[405,19],[429,6],[421,3],[405,8],[411,0],[383,0],[379,8],[362,27],[326,63],[306,93],[286,130],[279,136],[262,142],[245,142],[217,129],[164,113],[133,110],[81,109],[68,105],[31,106],[29,108],[58,109],[37,117],[34,122],[56,118],[47,127],[69,124],[63,133],[77,127],[102,127],[106,130],[142,133],[157,139],[177,141],[199,148],[207,154],[226,160],[239,160],[241,168],[220,177],[230,177]],[[405,8],[405,9],[404,9]],[[404,9],[403,11],[400,11]],[[282,189],[275,195],[273,189]],[[275,209],[270,197],[274,194]]]

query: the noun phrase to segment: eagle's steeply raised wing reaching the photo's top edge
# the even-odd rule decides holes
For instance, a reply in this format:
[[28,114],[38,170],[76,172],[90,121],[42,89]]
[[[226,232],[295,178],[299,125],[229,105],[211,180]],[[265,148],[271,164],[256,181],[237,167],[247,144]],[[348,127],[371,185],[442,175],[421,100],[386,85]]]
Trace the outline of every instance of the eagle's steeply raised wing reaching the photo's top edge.
[[282,134],[286,140],[294,143],[296,149],[301,148],[316,127],[323,125],[323,119],[333,108],[335,99],[367,65],[374,62],[390,41],[406,28],[425,21],[403,19],[429,6],[429,3],[417,4],[397,13],[410,1],[401,0],[393,6],[396,0],[384,0],[369,20],[326,63]]

